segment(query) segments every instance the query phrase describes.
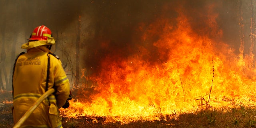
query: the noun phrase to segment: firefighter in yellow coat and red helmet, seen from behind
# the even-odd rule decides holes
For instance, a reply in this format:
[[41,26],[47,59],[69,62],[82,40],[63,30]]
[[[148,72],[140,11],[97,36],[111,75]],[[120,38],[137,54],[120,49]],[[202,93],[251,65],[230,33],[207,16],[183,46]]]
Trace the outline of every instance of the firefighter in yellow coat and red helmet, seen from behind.
[[48,96],[21,128],[62,128],[59,108],[65,105],[70,94],[69,80],[60,58],[50,49],[55,44],[52,32],[46,26],[38,26],[28,42],[21,48],[13,69],[13,118],[16,124],[36,100],[50,88],[55,92]]

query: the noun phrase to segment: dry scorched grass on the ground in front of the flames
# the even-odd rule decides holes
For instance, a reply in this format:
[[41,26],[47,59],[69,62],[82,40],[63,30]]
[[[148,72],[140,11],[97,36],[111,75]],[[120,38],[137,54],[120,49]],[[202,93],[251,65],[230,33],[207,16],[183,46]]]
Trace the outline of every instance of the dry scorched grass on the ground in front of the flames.
[[[12,99],[10,92],[0,92],[0,128],[12,128]],[[159,120],[105,123],[109,117],[80,116],[63,118],[64,128],[256,128],[256,106],[243,104],[233,108],[202,109],[180,115],[158,114]]]

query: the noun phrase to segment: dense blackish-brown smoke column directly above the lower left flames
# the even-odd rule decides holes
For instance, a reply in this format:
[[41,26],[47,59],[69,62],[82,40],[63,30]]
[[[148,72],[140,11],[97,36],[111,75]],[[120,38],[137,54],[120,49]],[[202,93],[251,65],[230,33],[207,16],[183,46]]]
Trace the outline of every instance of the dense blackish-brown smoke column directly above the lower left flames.
[[[109,62],[120,61],[133,54],[142,54],[140,47],[146,47],[154,54],[153,46],[155,35],[152,40],[143,41],[141,37],[152,22],[161,16],[176,17],[174,5],[169,0],[132,0],[132,1],[104,1],[95,2],[93,21],[94,37],[88,42],[88,52],[85,56],[85,65],[92,72],[100,71],[100,63],[103,60]],[[173,1],[172,3],[176,3]],[[165,4],[170,5],[168,13],[163,12]],[[164,8],[165,9],[165,8]],[[163,13],[165,13],[163,15]],[[142,26],[143,25],[143,26]],[[141,28],[142,27],[142,28]],[[144,28],[143,28],[144,27]],[[85,42],[87,43],[87,42]],[[150,58],[148,58],[150,59]],[[155,59],[155,58],[151,58]]]

